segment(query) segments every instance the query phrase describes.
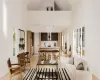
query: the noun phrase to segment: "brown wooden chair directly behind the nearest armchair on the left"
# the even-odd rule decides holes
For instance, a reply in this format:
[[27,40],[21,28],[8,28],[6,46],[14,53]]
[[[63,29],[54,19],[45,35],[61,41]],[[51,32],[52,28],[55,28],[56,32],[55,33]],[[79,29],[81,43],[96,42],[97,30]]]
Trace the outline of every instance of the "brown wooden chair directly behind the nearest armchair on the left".
[[23,71],[25,71],[26,61],[25,61],[25,53],[20,53],[17,55],[18,63],[20,64]]

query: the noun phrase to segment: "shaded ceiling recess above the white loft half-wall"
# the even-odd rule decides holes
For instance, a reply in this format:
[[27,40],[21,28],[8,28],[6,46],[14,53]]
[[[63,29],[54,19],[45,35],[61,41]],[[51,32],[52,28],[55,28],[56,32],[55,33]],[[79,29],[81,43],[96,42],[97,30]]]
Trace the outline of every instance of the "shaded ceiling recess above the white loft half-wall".
[[28,10],[43,10],[53,7],[54,11],[71,11],[71,4],[77,0],[28,0]]

